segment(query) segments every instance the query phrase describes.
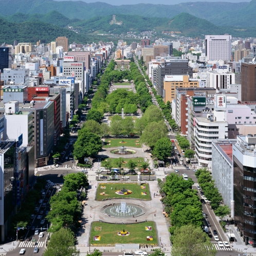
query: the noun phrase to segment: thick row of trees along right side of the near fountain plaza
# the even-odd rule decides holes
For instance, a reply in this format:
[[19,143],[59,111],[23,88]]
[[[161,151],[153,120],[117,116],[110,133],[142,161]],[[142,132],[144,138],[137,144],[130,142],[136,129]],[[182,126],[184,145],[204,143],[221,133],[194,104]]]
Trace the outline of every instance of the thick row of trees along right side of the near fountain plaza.
[[[160,191],[166,194],[162,202],[171,220],[169,231],[172,234],[172,255],[215,255],[216,249],[210,246],[210,239],[201,228],[202,204],[197,191],[192,189],[194,181],[170,174],[165,183],[158,179],[158,184]],[[185,237],[186,240],[183,240]],[[206,254],[206,251],[210,254]]]

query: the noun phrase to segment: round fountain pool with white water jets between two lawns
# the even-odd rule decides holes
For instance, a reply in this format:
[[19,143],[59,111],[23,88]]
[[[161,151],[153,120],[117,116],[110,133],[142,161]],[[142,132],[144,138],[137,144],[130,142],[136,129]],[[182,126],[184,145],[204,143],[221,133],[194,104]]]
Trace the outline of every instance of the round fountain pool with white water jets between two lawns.
[[141,215],[143,213],[143,210],[138,206],[130,204],[126,204],[124,208],[124,206],[121,203],[113,206],[108,206],[104,208],[102,212],[112,217],[123,218]]

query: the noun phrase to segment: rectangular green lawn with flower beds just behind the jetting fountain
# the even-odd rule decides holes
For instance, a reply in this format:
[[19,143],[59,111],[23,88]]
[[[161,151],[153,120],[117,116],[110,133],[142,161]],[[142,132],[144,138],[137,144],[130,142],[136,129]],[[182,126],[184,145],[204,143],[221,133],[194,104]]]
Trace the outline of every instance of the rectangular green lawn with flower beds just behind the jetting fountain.
[[[145,189],[141,188],[141,186],[144,186]],[[112,188],[112,189],[111,189]],[[121,189],[127,189],[131,190],[132,193],[128,195],[120,195],[116,194],[117,190]],[[142,192],[147,193],[147,195],[142,195]],[[104,193],[104,195],[100,195],[100,193]],[[96,200],[101,201],[102,199],[106,198],[140,198],[144,200],[150,200],[150,191],[149,191],[149,185],[148,184],[142,184],[142,185],[137,185],[137,184],[127,184],[127,183],[100,183],[98,188],[97,188],[97,193],[96,193]]]

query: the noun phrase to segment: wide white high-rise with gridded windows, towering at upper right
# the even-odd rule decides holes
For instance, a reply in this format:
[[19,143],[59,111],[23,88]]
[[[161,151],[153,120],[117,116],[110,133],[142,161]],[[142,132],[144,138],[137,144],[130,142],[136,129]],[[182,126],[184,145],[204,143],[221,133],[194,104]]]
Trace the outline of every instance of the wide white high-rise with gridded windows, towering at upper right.
[[208,61],[231,60],[231,35],[206,35],[205,52]]

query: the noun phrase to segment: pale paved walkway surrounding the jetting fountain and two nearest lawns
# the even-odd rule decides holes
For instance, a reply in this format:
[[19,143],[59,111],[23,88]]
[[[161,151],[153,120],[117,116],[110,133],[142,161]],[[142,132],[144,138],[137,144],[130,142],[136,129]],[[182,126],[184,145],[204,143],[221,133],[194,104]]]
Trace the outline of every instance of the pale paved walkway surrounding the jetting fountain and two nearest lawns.
[[[150,187],[150,193],[152,200],[150,201],[141,201],[136,199],[125,199],[126,203],[136,203],[143,206],[143,210],[145,211],[145,214],[137,217],[138,222],[141,221],[154,221],[157,227],[157,240],[158,244],[162,243],[163,247],[166,252],[170,252],[170,233],[168,231],[168,223],[167,218],[162,216],[162,210],[163,206],[160,202],[159,197],[154,197],[154,193],[158,191],[158,184],[157,181],[148,181],[149,187]],[[115,199],[115,200],[108,200],[106,201],[96,201],[96,190],[97,190],[98,182],[92,181],[90,182],[90,189],[88,190],[88,200],[87,205],[84,207],[82,221],[84,226],[80,229],[78,239],[78,246],[77,248],[80,250],[81,253],[87,253],[90,249],[90,251],[96,249],[99,249],[101,251],[103,250],[109,250],[109,251],[118,251],[118,249],[115,249],[115,247],[94,247],[90,246],[89,248],[89,234],[90,234],[90,225],[94,221],[109,221],[109,222],[117,222],[117,223],[133,223],[134,218],[113,218],[108,217],[104,214],[102,214],[101,209],[106,204],[113,203],[120,203],[122,199]],[[156,214],[156,216],[154,215]],[[91,217],[92,216],[92,217]],[[161,242],[160,242],[161,237]],[[149,248],[148,248],[149,249]],[[150,250],[150,249],[149,249]],[[119,250],[120,251],[120,250]],[[131,249],[129,249],[131,251]]]

